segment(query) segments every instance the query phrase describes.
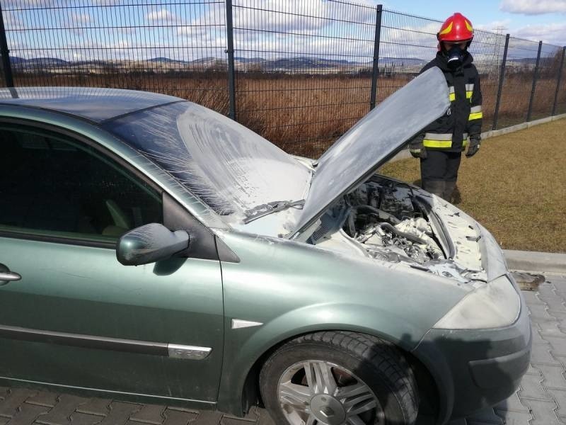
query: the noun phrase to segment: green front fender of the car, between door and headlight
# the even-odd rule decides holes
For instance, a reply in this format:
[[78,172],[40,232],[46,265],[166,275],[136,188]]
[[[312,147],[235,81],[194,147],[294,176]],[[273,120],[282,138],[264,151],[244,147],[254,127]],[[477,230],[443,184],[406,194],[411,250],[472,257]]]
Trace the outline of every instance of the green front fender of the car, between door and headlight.
[[[241,414],[250,369],[283,341],[312,331],[357,331],[405,351],[467,290],[454,280],[401,264],[301,242],[221,232],[240,259],[222,262],[224,363],[219,409]],[[232,319],[258,322],[232,329]]]

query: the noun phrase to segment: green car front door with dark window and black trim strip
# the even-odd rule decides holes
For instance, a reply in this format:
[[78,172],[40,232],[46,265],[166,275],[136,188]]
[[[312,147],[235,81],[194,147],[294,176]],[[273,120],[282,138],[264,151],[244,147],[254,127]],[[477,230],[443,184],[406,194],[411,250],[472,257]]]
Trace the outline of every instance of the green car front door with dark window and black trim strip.
[[173,203],[151,181],[91,140],[29,123],[0,123],[0,159],[0,263],[21,275],[0,282],[0,378],[214,402],[212,234],[200,226],[190,259],[122,266],[121,234],[168,225]]

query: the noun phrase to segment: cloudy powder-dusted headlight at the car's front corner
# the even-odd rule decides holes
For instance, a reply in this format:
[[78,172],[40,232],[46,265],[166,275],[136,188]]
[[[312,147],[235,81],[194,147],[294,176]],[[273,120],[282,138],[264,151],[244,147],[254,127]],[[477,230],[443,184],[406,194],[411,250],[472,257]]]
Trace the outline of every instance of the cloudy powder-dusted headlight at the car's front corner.
[[488,329],[514,323],[521,298],[507,276],[501,276],[469,293],[442,317],[436,329]]

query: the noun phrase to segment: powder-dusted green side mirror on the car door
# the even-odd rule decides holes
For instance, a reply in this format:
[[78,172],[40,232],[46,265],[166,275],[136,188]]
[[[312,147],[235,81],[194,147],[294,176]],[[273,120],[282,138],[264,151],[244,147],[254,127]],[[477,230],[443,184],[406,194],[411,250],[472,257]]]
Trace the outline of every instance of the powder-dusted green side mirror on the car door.
[[116,258],[125,266],[139,266],[166,260],[189,246],[184,230],[171,232],[158,223],[150,223],[122,235],[116,246]]

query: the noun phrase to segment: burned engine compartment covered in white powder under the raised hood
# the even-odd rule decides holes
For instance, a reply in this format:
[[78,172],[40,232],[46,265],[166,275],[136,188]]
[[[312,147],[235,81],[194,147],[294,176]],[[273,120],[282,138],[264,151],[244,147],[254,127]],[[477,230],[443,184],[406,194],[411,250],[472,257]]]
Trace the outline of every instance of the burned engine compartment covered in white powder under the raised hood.
[[326,210],[306,242],[469,283],[487,281],[481,239],[454,205],[376,174]]

